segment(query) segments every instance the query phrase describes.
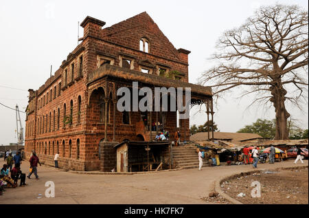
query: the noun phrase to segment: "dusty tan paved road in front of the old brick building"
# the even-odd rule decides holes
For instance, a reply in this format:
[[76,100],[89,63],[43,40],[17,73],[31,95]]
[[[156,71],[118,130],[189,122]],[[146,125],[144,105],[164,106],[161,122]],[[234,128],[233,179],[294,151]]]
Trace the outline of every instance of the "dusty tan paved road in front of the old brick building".
[[[3,165],[3,159],[0,161]],[[308,166],[308,160],[297,166]],[[258,170],[295,166],[293,160],[258,164]],[[29,164],[21,164],[29,172]],[[39,180],[26,179],[25,187],[7,188],[1,204],[206,204],[214,182],[225,176],[252,171],[251,165],[205,167],[135,175],[85,175],[38,166]],[[56,197],[45,197],[45,182],[53,181]],[[40,197],[41,194],[41,198]]]

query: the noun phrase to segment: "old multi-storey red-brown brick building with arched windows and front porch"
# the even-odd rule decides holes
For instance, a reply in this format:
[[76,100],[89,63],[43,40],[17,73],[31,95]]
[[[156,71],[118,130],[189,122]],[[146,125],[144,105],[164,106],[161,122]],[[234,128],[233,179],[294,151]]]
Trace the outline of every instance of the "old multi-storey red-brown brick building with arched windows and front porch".
[[151,89],[190,87],[192,105],[205,103],[213,115],[211,89],[188,83],[190,51],[176,50],[146,12],[109,28],[92,17],[80,25],[81,43],[44,85],[29,89],[27,156],[34,149],[52,164],[58,151],[60,168],[109,171],[116,153],[108,142],[155,138],[150,129],[157,120],[189,140],[189,119],[178,122],[174,111],[117,111],[117,89],[133,81]]

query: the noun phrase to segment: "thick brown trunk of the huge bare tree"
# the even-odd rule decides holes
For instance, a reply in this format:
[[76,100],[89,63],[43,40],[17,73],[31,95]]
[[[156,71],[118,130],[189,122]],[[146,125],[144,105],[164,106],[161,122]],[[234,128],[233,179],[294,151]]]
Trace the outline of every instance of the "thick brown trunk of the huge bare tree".
[[287,91],[282,87],[279,79],[276,85],[271,86],[270,89],[271,95],[273,96],[271,102],[273,102],[276,113],[276,133],[274,140],[288,140],[288,118],[290,117],[290,113],[286,111],[286,106],[284,105],[284,101],[286,100],[284,96]]

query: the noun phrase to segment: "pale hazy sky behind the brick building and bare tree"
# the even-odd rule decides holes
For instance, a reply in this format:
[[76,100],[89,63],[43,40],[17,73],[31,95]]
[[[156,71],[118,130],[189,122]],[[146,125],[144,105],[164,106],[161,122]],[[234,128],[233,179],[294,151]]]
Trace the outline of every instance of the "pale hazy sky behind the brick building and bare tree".
[[[279,1],[308,10],[308,1]],[[211,67],[207,58],[225,30],[236,28],[263,5],[276,1],[1,1],[0,102],[25,111],[27,89],[38,89],[77,45],[78,21],[87,15],[106,22],[105,28],[146,11],[178,49],[190,50],[190,83]],[[82,28],[80,28],[82,36]],[[9,89],[12,87],[17,89]],[[19,90],[23,89],[23,90]],[[219,100],[214,121],[220,131],[235,132],[258,118],[275,118],[274,108],[245,110],[250,98],[237,100],[238,91]],[[308,128],[308,105],[288,112]],[[191,112],[191,124],[203,124],[205,112]],[[194,115],[194,116],[193,116]],[[21,113],[23,128],[25,114]],[[0,144],[16,142],[15,111],[0,105]]]

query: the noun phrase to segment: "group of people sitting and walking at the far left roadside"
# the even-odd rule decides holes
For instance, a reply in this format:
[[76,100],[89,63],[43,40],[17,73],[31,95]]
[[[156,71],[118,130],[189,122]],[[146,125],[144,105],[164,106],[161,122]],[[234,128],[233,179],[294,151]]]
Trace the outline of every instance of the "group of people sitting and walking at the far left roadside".
[[[3,168],[1,168],[0,173],[0,195],[3,195],[5,187],[16,188],[19,179],[21,181],[19,186],[27,185],[25,183],[26,175],[21,171],[21,162],[23,160],[21,152],[17,151],[14,157],[12,157],[12,153],[9,153],[8,157],[6,157],[5,159],[6,164],[3,164]],[[29,162],[30,162],[30,173],[27,175],[27,178],[30,179],[32,173],[34,173],[36,179],[38,179],[36,167],[38,166],[38,164],[40,164],[41,166],[41,163],[38,160],[38,156],[36,156],[35,151],[32,151]],[[12,168],[13,164],[14,167]]]

